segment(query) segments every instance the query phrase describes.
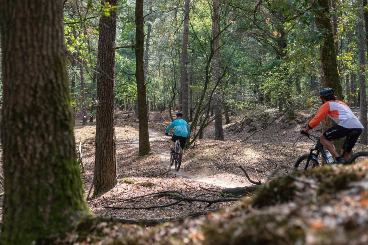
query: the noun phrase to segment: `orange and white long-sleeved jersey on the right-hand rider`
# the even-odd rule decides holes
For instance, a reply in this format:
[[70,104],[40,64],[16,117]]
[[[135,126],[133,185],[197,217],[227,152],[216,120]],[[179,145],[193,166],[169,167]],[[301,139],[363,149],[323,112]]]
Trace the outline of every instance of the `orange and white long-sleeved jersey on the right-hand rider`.
[[344,128],[364,128],[353,111],[340,100],[329,100],[322,104],[316,116],[308,124],[309,128],[316,127],[325,116],[329,116],[335,123]]

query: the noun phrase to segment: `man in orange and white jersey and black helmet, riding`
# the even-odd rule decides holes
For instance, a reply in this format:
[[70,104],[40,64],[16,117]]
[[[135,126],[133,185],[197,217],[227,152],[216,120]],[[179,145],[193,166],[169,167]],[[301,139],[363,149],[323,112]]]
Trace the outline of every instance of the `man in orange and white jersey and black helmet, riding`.
[[[335,123],[337,123],[337,125],[323,132],[323,134],[321,134],[319,137],[319,141],[321,141],[322,145],[329,150],[333,157],[335,157],[335,161],[333,161],[333,163],[346,163],[350,159],[350,152],[357,142],[364,127],[360,123],[359,119],[355,117],[353,111],[350,110],[347,104],[337,100],[335,90],[332,88],[324,88],[319,93],[319,96],[321,98],[322,106],[319,108],[318,113],[312,119],[312,121],[308,123],[308,126],[304,129],[304,131],[300,131],[300,134],[307,136],[307,132],[321,123],[325,116],[330,117],[333,121],[335,121]],[[344,158],[342,158],[340,157],[339,153],[337,153],[335,146],[333,146],[330,141],[346,137],[353,131],[357,131],[358,134],[351,136],[350,140],[346,142],[346,154]],[[341,152],[343,152],[343,149]]]

